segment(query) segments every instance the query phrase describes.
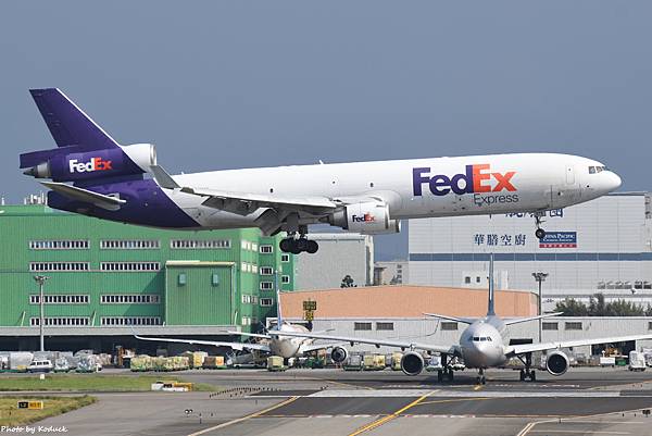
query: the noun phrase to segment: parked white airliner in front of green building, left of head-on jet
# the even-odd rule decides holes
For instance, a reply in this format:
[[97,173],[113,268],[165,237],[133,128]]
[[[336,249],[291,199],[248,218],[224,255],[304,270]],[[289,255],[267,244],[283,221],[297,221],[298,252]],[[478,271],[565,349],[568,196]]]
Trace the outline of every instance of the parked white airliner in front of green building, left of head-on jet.
[[[134,332],[136,339],[151,340],[156,342],[176,342],[190,345],[208,345],[214,347],[227,347],[234,351],[252,351],[263,352],[269,356],[280,356],[284,359],[298,358],[316,350],[330,349],[330,358],[335,363],[343,362],[349,356],[347,349],[338,344],[313,344],[314,339],[299,336],[285,336],[286,333],[309,334],[310,331],[301,324],[291,324],[283,319],[280,311],[280,300],[278,299],[278,286],[276,290],[276,326],[271,328],[265,334],[244,333],[244,332],[226,332],[229,335],[247,336],[255,339],[263,339],[264,342],[228,342],[220,340],[203,340],[203,339],[174,339],[162,337],[139,336]],[[324,332],[325,333],[325,332]]]

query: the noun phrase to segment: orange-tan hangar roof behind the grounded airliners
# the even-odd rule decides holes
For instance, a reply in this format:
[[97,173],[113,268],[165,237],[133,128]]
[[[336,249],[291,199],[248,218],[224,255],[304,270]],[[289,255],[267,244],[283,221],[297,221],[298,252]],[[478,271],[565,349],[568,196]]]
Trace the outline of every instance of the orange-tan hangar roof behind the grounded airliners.
[[[452,316],[487,314],[487,289],[397,285],[281,292],[284,316],[303,317],[303,301],[309,299],[317,302],[315,319],[423,317],[424,312]],[[537,306],[532,292],[496,291],[496,312],[501,316],[534,316]]]

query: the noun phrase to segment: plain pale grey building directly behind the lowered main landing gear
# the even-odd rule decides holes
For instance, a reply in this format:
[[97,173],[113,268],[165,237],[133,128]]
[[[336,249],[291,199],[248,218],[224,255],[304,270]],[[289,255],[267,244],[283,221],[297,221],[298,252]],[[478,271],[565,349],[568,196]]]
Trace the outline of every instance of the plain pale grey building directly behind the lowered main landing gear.
[[294,257],[294,289],[339,288],[350,275],[356,286],[372,285],[374,279],[374,239],[350,233],[311,233],[319,244],[315,254]]

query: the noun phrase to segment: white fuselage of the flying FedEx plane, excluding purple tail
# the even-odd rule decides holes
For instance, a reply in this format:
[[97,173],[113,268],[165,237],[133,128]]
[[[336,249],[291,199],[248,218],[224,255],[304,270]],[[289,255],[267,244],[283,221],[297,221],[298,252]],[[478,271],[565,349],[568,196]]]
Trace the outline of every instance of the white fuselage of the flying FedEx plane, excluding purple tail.
[[[589,172],[589,167],[600,172]],[[620,178],[594,160],[554,153],[493,154],[228,170],[174,176],[181,186],[280,197],[373,198],[391,219],[536,212],[603,196]],[[254,226],[249,215],[202,205],[202,197],[164,189],[201,228]],[[303,216],[303,224],[317,222]]]

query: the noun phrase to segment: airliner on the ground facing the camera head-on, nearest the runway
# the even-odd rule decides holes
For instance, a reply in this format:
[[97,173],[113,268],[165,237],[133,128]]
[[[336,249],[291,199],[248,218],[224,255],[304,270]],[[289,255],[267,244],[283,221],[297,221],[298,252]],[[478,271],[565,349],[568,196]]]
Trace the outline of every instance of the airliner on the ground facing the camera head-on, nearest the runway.
[[453,371],[448,363],[448,358],[463,359],[466,368],[477,369],[478,383],[485,384],[485,370],[489,368],[501,366],[512,358],[519,359],[524,369],[521,370],[521,381],[536,381],[535,370],[531,369],[531,356],[536,351],[547,352],[546,369],[552,375],[563,375],[568,370],[568,357],[562,351],[562,348],[581,347],[598,344],[625,342],[630,340],[652,339],[652,335],[630,335],[613,336],[594,339],[561,340],[541,344],[510,344],[507,326],[524,323],[527,321],[540,320],[549,316],[556,316],[561,313],[548,313],[538,316],[502,319],[496,314],[493,298],[493,254],[489,258],[489,298],[487,315],[481,319],[455,317],[426,313],[426,316],[434,316],[443,320],[450,320],[462,324],[468,324],[460,341],[453,345],[430,345],[410,342],[393,339],[371,339],[349,336],[330,336],[311,333],[291,333],[288,336],[310,337],[313,339],[334,340],[341,342],[371,344],[376,347],[396,347],[401,350],[409,350],[401,359],[401,369],[408,375],[418,375],[424,369],[425,361],[423,352],[438,352],[441,356],[442,370],[438,371],[437,378],[441,382],[446,375],[449,381],[453,379]]

